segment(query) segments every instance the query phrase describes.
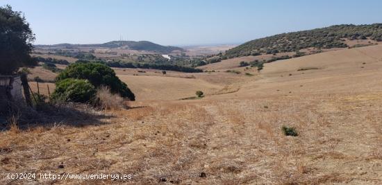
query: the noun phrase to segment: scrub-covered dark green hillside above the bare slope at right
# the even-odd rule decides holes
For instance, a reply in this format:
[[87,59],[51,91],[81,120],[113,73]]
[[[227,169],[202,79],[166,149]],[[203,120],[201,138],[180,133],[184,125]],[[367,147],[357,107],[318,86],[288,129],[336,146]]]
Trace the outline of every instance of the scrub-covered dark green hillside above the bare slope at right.
[[331,49],[344,48],[348,45],[345,39],[372,39],[382,41],[382,24],[354,25],[343,24],[303,30],[292,33],[282,33],[270,37],[254,39],[226,51],[228,58],[248,55],[262,55],[282,52],[299,51],[300,49]]

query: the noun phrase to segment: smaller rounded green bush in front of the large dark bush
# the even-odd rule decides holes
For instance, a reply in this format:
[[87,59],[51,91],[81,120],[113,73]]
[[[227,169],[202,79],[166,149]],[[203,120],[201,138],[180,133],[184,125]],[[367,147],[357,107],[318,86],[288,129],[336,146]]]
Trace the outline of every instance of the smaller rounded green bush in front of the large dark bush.
[[55,102],[90,103],[95,95],[96,89],[88,80],[67,78],[56,82],[51,98]]

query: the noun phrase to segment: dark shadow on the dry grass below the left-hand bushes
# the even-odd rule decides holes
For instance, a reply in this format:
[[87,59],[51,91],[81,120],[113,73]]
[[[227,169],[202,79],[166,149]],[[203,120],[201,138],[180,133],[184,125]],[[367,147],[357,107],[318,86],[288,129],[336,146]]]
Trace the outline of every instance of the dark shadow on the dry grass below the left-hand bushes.
[[107,123],[104,120],[113,117],[83,104],[44,104],[35,109],[24,105],[12,105],[7,115],[0,115],[0,131],[9,130],[10,125],[15,124],[20,130],[39,126],[50,128],[57,125],[74,127],[103,125]]

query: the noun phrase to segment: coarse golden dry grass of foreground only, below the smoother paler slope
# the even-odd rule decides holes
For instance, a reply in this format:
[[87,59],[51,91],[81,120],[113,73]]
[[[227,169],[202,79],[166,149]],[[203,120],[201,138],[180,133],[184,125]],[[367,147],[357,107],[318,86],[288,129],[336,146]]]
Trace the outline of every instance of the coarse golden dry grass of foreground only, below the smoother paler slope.
[[[375,116],[382,113],[381,97],[151,102],[112,112],[118,116],[106,125],[1,132],[7,138],[0,143],[1,170],[126,173],[137,184],[160,178],[183,184],[378,184],[381,127]],[[297,127],[299,136],[283,136],[282,125]],[[57,183],[80,182],[101,183]]]

